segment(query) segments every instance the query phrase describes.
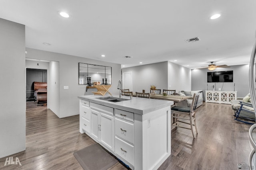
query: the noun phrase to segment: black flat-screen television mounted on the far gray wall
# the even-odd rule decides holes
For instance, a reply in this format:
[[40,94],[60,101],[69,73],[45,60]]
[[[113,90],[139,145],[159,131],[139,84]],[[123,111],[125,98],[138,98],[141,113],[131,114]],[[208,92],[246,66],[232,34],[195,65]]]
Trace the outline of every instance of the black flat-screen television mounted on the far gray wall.
[[233,82],[233,70],[207,72],[207,82]]

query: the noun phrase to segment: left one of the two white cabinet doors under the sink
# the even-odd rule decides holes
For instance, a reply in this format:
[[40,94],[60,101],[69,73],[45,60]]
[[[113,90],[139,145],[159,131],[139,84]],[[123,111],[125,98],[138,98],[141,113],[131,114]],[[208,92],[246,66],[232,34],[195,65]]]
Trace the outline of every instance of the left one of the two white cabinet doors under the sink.
[[100,112],[91,109],[91,135],[96,140],[99,141],[100,133],[99,133],[99,125],[100,125]]

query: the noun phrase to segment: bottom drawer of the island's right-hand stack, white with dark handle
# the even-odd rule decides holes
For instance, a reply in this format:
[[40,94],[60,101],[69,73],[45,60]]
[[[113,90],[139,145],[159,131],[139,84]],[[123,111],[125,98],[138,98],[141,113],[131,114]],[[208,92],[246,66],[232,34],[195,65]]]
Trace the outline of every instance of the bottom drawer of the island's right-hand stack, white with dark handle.
[[115,137],[115,151],[116,154],[134,166],[134,146]]

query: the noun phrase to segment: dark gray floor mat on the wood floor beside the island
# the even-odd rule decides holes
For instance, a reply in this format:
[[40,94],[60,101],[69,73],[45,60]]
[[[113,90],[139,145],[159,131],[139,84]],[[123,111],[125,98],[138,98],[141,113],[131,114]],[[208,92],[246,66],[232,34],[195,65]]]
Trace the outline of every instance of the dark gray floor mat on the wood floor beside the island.
[[74,152],[74,156],[84,170],[106,170],[118,162],[98,143]]

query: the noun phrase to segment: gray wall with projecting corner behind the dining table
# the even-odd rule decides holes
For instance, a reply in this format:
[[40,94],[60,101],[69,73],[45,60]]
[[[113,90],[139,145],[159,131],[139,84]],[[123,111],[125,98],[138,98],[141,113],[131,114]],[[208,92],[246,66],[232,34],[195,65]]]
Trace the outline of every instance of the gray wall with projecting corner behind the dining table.
[[150,85],[157,89],[191,90],[191,70],[169,61],[123,68],[122,73],[132,72],[134,92],[150,92]]

